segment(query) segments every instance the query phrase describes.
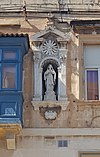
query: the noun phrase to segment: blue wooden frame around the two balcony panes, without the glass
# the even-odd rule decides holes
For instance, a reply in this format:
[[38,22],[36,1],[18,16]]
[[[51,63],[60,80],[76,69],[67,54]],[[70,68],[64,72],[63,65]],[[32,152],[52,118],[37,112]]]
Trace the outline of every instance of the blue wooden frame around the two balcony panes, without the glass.
[[[21,83],[20,83],[20,78],[21,78],[21,57],[20,57],[20,48],[17,46],[6,46],[6,47],[0,47],[0,91],[18,91],[21,89]],[[4,58],[4,52],[11,53],[14,52],[16,53],[16,58],[15,59],[6,59]],[[15,66],[16,67],[16,78],[15,78],[15,88],[3,88],[3,66]]]

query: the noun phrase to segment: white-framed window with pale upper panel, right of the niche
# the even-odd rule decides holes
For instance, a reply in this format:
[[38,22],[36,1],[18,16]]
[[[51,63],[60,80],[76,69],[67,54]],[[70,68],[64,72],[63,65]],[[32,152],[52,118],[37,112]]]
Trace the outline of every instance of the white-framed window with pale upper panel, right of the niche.
[[100,100],[100,46],[84,46],[85,98]]

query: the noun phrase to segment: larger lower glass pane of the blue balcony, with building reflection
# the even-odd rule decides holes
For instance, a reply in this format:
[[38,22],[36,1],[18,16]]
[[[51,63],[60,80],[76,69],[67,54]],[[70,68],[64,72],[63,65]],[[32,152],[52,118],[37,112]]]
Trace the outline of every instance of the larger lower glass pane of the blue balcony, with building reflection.
[[16,88],[16,66],[3,66],[2,88]]

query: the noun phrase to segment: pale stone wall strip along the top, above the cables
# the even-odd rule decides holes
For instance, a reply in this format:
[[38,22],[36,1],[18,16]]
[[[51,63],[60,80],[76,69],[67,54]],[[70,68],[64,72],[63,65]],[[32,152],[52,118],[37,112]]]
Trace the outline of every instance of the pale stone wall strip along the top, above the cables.
[[[99,10],[99,0],[26,0],[27,11],[52,11],[52,10],[65,10],[68,8],[71,10],[85,10],[93,11]],[[59,6],[60,4],[60,6]],[[1,12],[22,11],[24,1],[23,0],[1,0],[0,7]]]

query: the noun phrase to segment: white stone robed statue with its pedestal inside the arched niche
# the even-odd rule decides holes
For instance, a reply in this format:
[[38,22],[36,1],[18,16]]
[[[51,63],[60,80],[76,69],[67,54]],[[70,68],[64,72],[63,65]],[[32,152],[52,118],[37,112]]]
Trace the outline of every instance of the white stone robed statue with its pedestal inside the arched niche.
[[55,100],[54,85],[56,81],[56,72],[51,64],[48,65],[44,73],[44,81],[46,87],[45,100]]

